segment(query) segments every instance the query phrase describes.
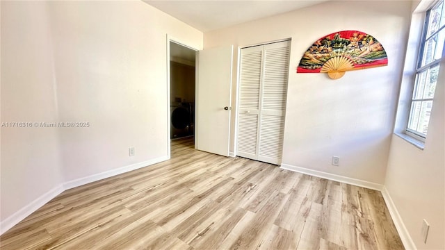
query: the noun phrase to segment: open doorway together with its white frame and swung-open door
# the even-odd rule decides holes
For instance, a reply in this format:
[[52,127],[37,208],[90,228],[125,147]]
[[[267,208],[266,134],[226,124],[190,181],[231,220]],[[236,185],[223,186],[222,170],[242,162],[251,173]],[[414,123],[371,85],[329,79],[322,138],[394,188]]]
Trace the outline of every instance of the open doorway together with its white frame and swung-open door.
[[[172,115],[177,108],[177,104],[180,102],[180,106],[185,109],[189,104],[189,107],[191,107],[191,122],[186,121],[182,126],[179,126],[179,129],[183,130],[181,134],[193,137],[193,147],[195,149],[229,156],[233,46],[205,49],[198,53],[197,49],[170,40],[167,35],[167,47],[168,139],[170,140],[170,131],[177,128],[172,124],[172,120],[175,120],[175,117],[172,119]],[[175,51],[175,49],[178,49],[178,51]],[[175,79],[171,79],[175,78],[175,76],[172,76],[175,73],[171,72],[170,65],[175,67],[179,63],[181,66],[186,65],[193,69],[193,60],[195,60],[195,74],[191,74],[191,78],[193,79],[193,76],[195,76],[195,80],[189,81],[189,84],[183,85],[183,87],[193,90],[189,93],[195,93],[195,96],[180,97],[180,92],[176,92],[175,83],[170,86],[171,82],[175,82]],[[185,77],[183,74],[177,76],[179,78]],[[186,104],[185,107],[184,103]],[[179,133],[176,133],[176,135],[175,132],[172,133],[173,140],[184,138],[179,136]],[[171,146],[172,143],[169,143],[168,158],[174,155]]]

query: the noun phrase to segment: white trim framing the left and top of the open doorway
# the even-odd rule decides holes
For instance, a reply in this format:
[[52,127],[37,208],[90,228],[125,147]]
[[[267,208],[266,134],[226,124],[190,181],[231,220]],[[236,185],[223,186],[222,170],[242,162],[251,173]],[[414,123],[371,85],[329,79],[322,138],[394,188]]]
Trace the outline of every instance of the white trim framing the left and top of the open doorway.
[[[166,35],[166,42],[167,42],[167,159],[171,158],[171,142],[170,142],[170,131],[171,131],[171,117],[170,117],[170,42],[175,42],[175,44],[179,44],[182,47],[186,47],[188,49],[192,49],[195,52],[199,51],[199,49],[196,49],[194,47],[186,45],[184,42],[181,42],[180,39],[174,38],[171,35]],[[196,80],[195,80],[196,85]],[[196,127],[195,127],[196,129]],[[196,133],[196,132],[195,132]]]

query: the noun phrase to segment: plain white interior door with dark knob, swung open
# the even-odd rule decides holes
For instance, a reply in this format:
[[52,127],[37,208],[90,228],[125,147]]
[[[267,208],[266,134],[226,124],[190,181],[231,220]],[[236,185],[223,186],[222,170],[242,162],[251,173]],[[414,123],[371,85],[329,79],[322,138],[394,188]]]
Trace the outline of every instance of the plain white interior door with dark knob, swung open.
[[233,46],[197,52],[195,149],[229,156]]

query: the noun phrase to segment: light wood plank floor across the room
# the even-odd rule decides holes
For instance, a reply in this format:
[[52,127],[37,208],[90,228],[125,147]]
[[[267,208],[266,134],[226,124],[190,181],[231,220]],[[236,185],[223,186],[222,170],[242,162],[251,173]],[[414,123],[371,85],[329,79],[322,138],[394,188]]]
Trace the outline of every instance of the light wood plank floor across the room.
[[[185,143],[180,143],[185,142]],[[172,159],[66,190],[1,249],[403,249],[380,192],[172,142]]]

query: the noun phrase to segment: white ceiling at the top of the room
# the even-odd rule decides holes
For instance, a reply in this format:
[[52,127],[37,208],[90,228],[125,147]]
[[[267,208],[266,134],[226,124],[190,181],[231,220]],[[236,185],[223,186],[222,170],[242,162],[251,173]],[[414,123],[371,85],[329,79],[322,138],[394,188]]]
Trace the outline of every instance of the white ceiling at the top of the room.
[[293,1],[159,1],[143,0],[180,21],[208,32],[255,19],[270,17],[330,0]]

